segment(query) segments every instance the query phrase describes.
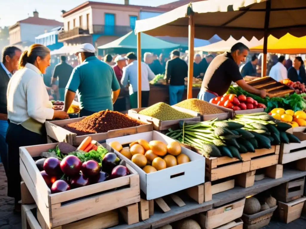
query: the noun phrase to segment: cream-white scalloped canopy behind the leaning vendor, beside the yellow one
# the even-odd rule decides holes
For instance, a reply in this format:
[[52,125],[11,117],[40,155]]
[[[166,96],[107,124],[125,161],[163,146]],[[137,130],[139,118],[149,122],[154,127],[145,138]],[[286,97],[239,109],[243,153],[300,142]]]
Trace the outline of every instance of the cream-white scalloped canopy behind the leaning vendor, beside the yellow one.
[[210,45],[196,47],[196,48],[194,48],[194,50],[195,51],[204,51],[204,52],[214,52],[214,53],[216,53],[216,52],[226,52],[226,51],[229,51],[231,49],[231,47],[238,42],[241,42],[248,47],[255,47],[257,45],[263,44],[263,39],[261,39],[259,41],[257,38],[253,37],[250,41],[248,41],[247,39],[242,37],[241,39],[236,40],[235,38],[233,38],[231,36],[226,41],[222,40],[222,41],[210,44]]

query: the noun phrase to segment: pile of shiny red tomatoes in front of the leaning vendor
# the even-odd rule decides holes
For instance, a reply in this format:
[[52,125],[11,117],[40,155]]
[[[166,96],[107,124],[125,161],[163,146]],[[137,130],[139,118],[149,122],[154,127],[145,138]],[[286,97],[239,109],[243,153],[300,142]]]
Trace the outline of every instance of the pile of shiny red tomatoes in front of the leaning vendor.
[[239,96],[236,96],[236,94],[224,94],[223,96],[212,98],[209,102],[218,106],[233,109],[234,111],[266,108],[265,104],[258,103],[252,97],[247,97],[242,94]]

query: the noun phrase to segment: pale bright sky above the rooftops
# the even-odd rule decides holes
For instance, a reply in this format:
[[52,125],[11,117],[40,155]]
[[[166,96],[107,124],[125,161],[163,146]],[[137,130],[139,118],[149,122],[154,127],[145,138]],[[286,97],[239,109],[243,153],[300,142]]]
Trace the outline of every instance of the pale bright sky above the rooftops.
[[[19,20],[33,16],[35,9],[39,17],[62,21],[61,10],[70,10],[87,0],[0,0],[0,27],[10,26]],[[124,0],[91,0],[123,4]],[[158,6],[176,0],[130,0],[131,5]]]

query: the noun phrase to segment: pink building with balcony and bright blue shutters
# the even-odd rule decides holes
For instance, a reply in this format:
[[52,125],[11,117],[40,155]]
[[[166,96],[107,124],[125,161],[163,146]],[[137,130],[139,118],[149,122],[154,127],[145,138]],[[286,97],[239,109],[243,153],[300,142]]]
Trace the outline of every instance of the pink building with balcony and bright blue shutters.
[[129,5],[128,0],[124,4],[85,2],[62,14],[64,30],[58,34],[58,41],[67,45],[92,43],[97,47],[134,30],[141,13],[166,11],[168,9]]

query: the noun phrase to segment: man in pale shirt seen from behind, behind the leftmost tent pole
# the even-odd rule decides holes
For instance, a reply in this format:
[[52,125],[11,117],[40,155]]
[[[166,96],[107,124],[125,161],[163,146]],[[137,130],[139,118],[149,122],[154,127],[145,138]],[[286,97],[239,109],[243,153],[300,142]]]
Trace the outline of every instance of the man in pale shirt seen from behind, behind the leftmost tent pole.
[[[128,83],[129,94],[130,94],[130,106],[131,108],[137,108],[137,85],[138,85],[138,68],[137,68],[137,57],[135,53],[126,54],[128,66],[123,68],[123,74],[121,78],[121,84],[125,87]],[[149,92],[150,84],[149,81],[154,79],[155,75],[150,67],[141,62],[141,107],[147,107],[149,103]]]

